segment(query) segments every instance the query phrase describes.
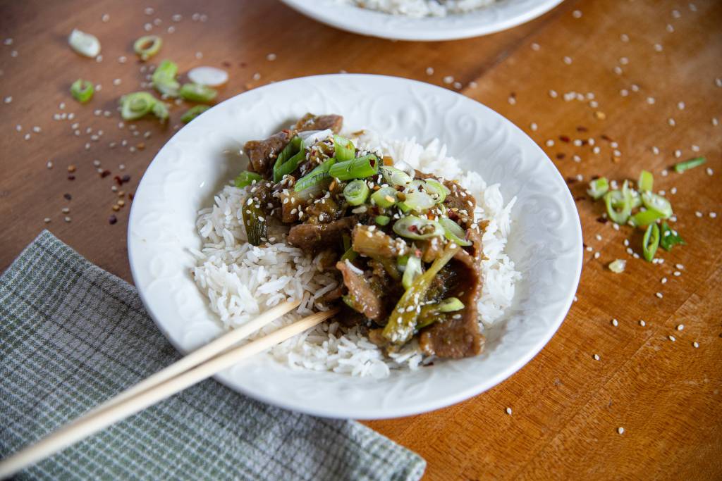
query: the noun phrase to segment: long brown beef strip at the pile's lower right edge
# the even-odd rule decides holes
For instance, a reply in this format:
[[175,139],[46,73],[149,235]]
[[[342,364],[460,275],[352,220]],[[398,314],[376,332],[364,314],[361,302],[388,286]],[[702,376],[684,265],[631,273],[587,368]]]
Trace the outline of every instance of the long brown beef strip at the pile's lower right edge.
[[[419,346],[429,356],[466,358],[482,352],[484,336],[479,332],[477,309],[477,299],[482,292],[482,275],[479,260],[475,257],[481,252],[481,236],[475,234],[470,233],[469,237],[474,242],[473,252],[469,254],[460,250],[449,262],[456,272],[457,282],[446,295],[458,297],[464,303],[464,309],[447,314],[443,322],[425,327],[419,336]],[[454,319],[456,314],[461,317]]]

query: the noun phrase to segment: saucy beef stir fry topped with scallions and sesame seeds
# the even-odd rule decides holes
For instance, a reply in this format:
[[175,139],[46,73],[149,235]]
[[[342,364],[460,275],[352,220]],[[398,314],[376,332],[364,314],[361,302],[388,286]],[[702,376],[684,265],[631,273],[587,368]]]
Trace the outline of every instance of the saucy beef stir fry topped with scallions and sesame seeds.
[[393,166],[339,136],[339,115],[307,114],[263,141],[249,141],[243,224],[248,242],[268,242],[269,222],[287,241],[337,270],[342,286],[321,297],[342,304],[340,321],[367,327],[387,352],[417,338],[443,358],[482,350],[482,226],[475,200],[456,182]]

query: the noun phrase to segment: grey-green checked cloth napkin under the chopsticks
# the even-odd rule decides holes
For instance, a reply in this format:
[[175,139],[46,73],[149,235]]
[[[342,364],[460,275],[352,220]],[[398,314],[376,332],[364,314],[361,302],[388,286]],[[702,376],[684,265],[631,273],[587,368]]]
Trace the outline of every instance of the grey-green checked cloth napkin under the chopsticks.
[[[179,358],[135,289],[43,231],[0,277],[0,456]],[[354,421],[208,379],[20,479],[418,480],[425,461]]]

